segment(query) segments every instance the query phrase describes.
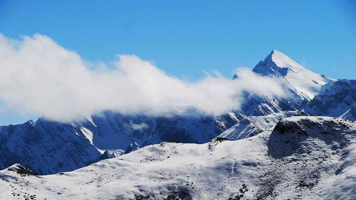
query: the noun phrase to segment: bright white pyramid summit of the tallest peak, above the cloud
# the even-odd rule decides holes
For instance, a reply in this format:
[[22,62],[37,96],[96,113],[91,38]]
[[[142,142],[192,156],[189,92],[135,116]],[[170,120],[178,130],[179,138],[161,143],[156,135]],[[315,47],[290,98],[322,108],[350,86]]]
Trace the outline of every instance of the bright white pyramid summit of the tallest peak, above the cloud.
[[277,50],[273,50],[265,60],[258,63],[253,68],[253,72],[279,77],[287,89],[294,92],[301,100],[308,101],[319,94],[322,85],[336,81],[336,79],[316,74],[304,68]]

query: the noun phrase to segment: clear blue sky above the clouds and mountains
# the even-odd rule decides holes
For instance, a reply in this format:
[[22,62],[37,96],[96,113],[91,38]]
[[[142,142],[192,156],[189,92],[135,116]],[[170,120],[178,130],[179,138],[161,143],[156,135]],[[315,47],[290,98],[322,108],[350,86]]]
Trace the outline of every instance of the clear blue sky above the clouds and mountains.
[[[308,69],[356,79],[355,1],[0,0],[6,37],[41,33],[85,60],[135,54],[168,74],[232,77],[277,49]],[[1,113],[0,124],[38,116]]]

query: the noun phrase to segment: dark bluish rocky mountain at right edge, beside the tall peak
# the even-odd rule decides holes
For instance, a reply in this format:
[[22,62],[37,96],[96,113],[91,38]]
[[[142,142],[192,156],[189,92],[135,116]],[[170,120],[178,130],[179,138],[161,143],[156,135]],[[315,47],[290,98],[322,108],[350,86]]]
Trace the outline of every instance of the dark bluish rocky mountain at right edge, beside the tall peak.
[[356,80],[342,79],[323,86],[320,95],[302,107],[316,116],[339,117],[355,103]]

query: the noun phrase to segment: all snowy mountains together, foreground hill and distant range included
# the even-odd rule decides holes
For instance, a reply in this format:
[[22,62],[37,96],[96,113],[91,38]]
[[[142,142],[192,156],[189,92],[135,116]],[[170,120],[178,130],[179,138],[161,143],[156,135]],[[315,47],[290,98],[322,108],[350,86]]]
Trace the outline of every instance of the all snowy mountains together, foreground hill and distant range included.
[[103,111],[0,126],[0,191],[24,199],[356,198],[356,80],[314,73],[277,50],[253,72],[286,95],[245,91],[241,109],[223,115]]

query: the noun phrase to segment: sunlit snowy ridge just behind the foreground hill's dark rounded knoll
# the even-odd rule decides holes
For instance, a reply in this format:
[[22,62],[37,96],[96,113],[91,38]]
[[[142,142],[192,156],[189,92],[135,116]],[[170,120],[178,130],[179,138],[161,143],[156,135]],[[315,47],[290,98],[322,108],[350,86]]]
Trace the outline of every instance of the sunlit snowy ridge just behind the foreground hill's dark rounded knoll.
[[248,116],[221,133],[218,137],[228,140],[241,140],[252,137],[273,127],[280,120],[291,116],[310,116],[310,114],[301,111],[284,111],[266,116]]

